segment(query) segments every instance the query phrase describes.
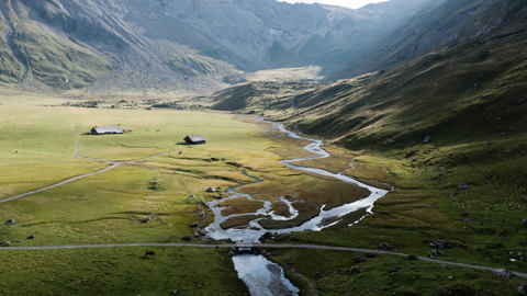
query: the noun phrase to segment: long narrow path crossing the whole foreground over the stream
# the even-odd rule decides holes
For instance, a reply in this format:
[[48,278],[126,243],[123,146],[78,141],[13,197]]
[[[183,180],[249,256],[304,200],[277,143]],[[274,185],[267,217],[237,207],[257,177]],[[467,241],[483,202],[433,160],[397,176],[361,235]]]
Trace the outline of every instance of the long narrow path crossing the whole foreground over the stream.
[[[130,248],[130,247],[177,247],[177,248],[203,248],[203,249],[214,249],[214,248],[234,248],[234,247],[246,247],[246,248],[264,248],[264,249],[311,249],[311,250],[328,250],[328,251],[346,251],[346,252],[366,252],[366,253],[375,253],[375,254],[389,254],[397,257],[408,257],[406,253],[384,251],[384,250],[374,250],[374,249],[361,249],[361,248],[349,248],[349,247],[333,247],[333,246],[321,246],[321,244],[291,244],[291,243],[215,243],[215,244],[204,244],[204,243],[179,243],[179,242],[167,242],[167,243],[108,243],[108,244],[77,244],[77,246],[47,246],[47,247],[2,247],[0,251],[10,251],[10,250],[63,250],[63,249],[91,249],[91,248]],[[471,265],[459,262],[442,261],[430,259],[426,257],[416,257],[418,260],[446,264],[452,266],[468,267],[482,271],[497,271],[500,269],[487,267],[481,265]],[[511,271],[514,275],[523,278],[527,278],[527,273]]]

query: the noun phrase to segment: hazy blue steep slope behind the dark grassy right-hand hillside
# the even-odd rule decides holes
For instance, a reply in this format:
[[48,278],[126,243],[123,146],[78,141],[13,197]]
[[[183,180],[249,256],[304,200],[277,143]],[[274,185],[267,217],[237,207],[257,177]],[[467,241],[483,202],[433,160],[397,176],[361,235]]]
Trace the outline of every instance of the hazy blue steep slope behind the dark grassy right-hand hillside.
[[436,1],[414,14],[390,36],[366,52],[350,53],[341,78],[381,70],[423,54],[484,36],[494,29],[514,30],[522,1]]

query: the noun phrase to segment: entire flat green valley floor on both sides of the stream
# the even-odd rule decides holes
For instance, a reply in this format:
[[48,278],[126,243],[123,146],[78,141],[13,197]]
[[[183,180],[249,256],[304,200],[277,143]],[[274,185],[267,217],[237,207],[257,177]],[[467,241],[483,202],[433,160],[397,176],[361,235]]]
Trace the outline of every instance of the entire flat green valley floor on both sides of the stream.
[[[203,203],[218,197],[231,185],[250,182],[244,170],[264,180],[244,187],[244,192],[277,203],[277,210],[284,209],[276,196],[303,201],[299,202],[304,206],[299,206],[301,215],[295,223],[316,215],[323,204],[335,206],[362,195],[351,185],[280,164],[282,158],[305,153],[303,143],[266,130],[250,118],[170,110],[79,109],[60,106],[64,101],[53,98],[45,99],[44,104],[43,100],[26,96],[0,100],[0,241],[9,241],[10,247],[188,243],[189,240],[203,244],[208,240],[200,232],[213,218]],[[82,134],[93,125],[115,124],[132,132],[110,136]],[[79,132],[80,144],[77,156],[88,158],[76,157],[75,129]],[[188,147],[181,143],[187,134],[206,135],[208,144]],[[493,226],[500,228],[494,230],[485,225],[483,217],[498,219],[498,214],[474,212],[472,202],[460,201],[470,200],[475,195],[473,191],[484,191],[473,186],[471,180],[466,181],[471,191],[450,190],[451,183],[458,181],[447,174],[441,182],[448,186],[441,189],[427,182],[435,180],[435,175],[428,174],[436,167],[425,170],[424,158],[407,163],[404,157],[389,152],[348,151],[330,146],[327,149],[332,158],[305,164],[394,190],[375,204],[373,215],[352,227],[347,226],[355,218],[350,216],[319,232],[267,238],[267,243],[372,249],[349,253],[264,248],[262,252],[279,262],[303,293],[503,295],[503,292],[514,294],[522,284],[518,277],[503,278],[490,271],[412,259],[428,257],[436,249],[439,260],[471,265],[478,261],[491,267],[525,271],[525,260],[518,255],[525,252],[527,227],[519,223],[525,212],[514,212],[517,215]],[[413,155],[431,158],[445,149],[428,153],[422,149]],[[108,168],[113,169],[101,171]],[[101,173],[7,201],[96,171]],[[473,177],[473,172],[457,173]],[[206,193],[209,186],[221,187],[221,192]],[[445,198],[442,195],[450,191],[453,197]],[[511,207],[515,206],[511,204],[513,201],[508,202]],[[452,205],[471,209],[461,219]],[[226,205],[228,210],[239,213],[254,206],[246,201]],[[471,220],[466,221],[467,218]],[[14,219],[15,225],[3,224],[8,219]],[[194,223],[198,227],[189,226]],[[486,230],[481,230],[481,223]],[[236,224],[244,221],[233,226]],[[438,240],[446,240],[447,248],[430,247]],[[0,252],[0,294],[160,295],[178,289],[181,295],[243,295],[247,288],[237,278],[225,247],[4,249]],[[378,249],[415,255],[374,254]],[[155,255],[145,255],[148,250]],[[437,250],[444,255],[439,257]],[[512,262],[512,258],[517,260]]]

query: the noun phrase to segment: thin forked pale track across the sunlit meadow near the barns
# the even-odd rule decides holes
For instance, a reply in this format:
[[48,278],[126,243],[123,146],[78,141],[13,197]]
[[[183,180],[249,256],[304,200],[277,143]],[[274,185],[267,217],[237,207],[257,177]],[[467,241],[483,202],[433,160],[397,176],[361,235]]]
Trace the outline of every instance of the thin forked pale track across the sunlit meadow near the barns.
[[75,133],[75,145],[76,145],[76,149],[75,149],[75,157],[76,158],[83,158],[83,159],[100,161],[100,162],[109,163],[111,166],[106,167],[104,169],[94,171],[94,172],[90,172],[90,173],[86,173],[86,174],[69,178],[67,180],[60,181],[60,182],[58,182],[56,184],[53,184],[53,185],[48,185],[48,186],[45,186],[45,187],[42,187],[42,189],[37,189],[37,190],[34,190],[34,191],[30,191],[30,192],[26,192],[26,193],[22,193],[22,194],[19,194],[19,195],[14,195],[14,196],[10,196],[10,197],[0,200],[0,204],[7,203],[7,202],[10,202],[10,201],[13,201],[13,200],[18,200],[18,198],[21,198],[21,197],[24,197],[24,196],[27,196],[27,195],[32,195],[32,194],[35,194],[35,193],[38,193],[38,192],[43,192],[43,191],[46,191],[46,190],[55,189],[55,187],[75,182],[77,180],[85,179],[85,178],[90,177],[90,175],[108,172],[108,171],[111,171],[111,170],[113,170],[117,167],[121,167],[122,164],[137,163],[139,161],[148,160],[150,158],[156,158],[156,157],[160,157],[162,155],[168,155],[168,153],[172,153],[172,152],[177,151],[177,150],[170,150],[170,151],[153,155],[153,156],[149,156],[149,157],[145,157],[145,158],[136,159],[136,160],[127,160],[127,161],[112,161],[112,160],[104,160],[104,159],[85,157],[85,156],[79,155],[80,145],[79,145],[79,136],[78,136],[78,133],[77,133],[77,127],[74,128],[74,133]]

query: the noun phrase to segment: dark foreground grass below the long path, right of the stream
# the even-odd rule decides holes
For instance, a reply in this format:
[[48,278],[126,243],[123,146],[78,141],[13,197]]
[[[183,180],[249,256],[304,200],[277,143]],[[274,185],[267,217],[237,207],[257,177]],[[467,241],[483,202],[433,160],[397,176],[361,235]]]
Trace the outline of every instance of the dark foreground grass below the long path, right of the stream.
[[285,266],[285,274],[304,295],[497,296],[516,295],[522,284],[490,272],[399,257],[315,250],[272,250],[268,257]]

